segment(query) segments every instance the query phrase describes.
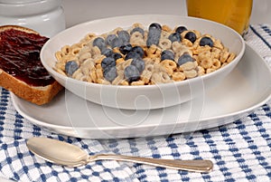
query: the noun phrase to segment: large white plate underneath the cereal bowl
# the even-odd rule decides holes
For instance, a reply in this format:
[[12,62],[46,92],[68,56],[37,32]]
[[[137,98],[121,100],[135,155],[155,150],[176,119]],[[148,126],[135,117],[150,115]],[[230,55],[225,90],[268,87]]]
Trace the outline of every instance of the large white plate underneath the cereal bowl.
[[248,115],[271,98],[271,71],[247,45],[238,66],[204,97],[157,110],[117,110],[70,91],[37,106],[12,94],[15,109],[33,124],[87,139],[134,138],[217,127]]

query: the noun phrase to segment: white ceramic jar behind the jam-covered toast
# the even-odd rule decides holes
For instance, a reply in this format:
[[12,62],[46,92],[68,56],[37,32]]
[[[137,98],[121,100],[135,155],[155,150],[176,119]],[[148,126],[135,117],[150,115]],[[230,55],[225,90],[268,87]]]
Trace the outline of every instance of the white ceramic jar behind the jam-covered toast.
[[0,0],[0,25],[16,24],[51,37],[65,29],[62,0]]

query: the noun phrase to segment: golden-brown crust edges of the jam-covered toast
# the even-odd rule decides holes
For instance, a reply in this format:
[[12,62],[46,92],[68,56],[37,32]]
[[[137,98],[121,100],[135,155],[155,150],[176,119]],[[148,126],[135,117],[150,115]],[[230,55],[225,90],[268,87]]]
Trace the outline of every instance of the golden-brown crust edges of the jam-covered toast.
[[[32,29],[22,26],[17,25],[0,26],[0,32],[4,32],[5,30],[10,29],[23,31],[28,34],[38,34]],[[0,68],[0,86],[2,86],[8,91],[14,92],[15,95],[22,98],[23,100],[31,101],[37,105],[42,105],[50,102],[52,98],[63,88],[61,84],[57,81],[53,81],[51,84],[46,86],[32,86],[25,83],[24,81],[15,78],[14,76],[5,72],[5,70],[2,70],[1,68]]]

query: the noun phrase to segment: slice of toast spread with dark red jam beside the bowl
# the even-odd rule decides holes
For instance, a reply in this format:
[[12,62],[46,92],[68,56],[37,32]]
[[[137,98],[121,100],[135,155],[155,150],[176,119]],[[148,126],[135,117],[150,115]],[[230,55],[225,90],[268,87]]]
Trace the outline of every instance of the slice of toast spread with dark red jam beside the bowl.
[[42,45],[47,40],[29,28],[0,26],[0,86],[37,105],[50,102],[62,86],[40,60]]

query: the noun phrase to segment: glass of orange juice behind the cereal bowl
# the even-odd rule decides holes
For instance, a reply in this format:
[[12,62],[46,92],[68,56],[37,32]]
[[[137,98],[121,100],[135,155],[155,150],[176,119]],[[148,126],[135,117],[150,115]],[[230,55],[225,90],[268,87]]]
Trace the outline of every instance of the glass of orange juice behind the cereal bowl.
[[186,0],[189,16],[226,24],[243,36],[248,34],[253,0]]

